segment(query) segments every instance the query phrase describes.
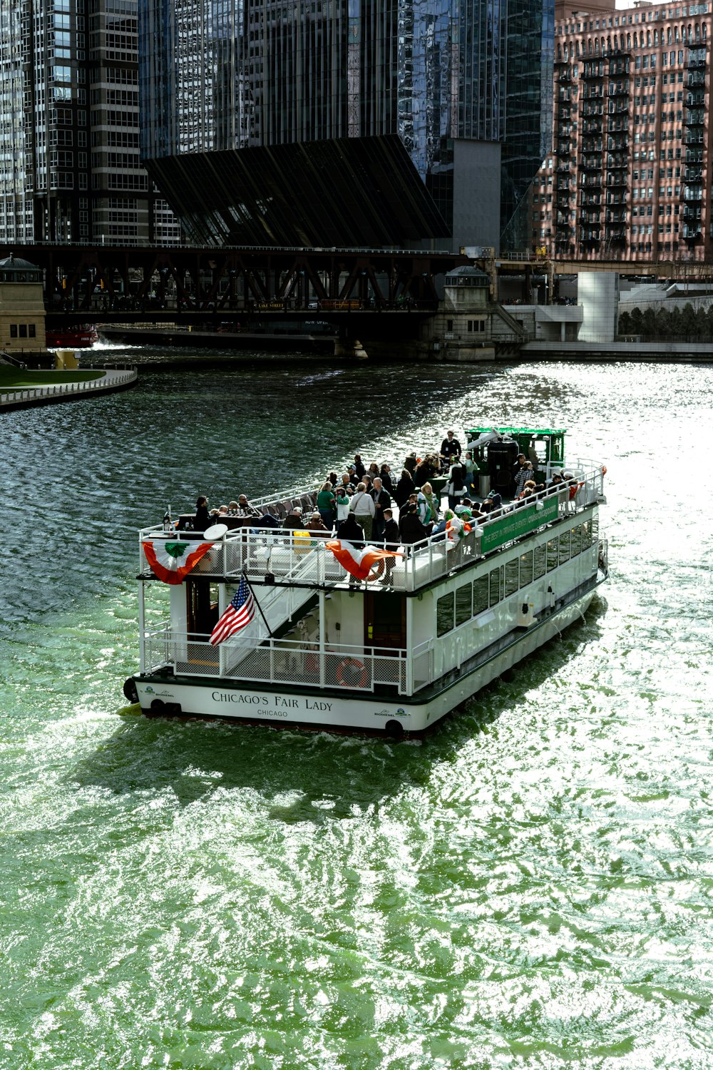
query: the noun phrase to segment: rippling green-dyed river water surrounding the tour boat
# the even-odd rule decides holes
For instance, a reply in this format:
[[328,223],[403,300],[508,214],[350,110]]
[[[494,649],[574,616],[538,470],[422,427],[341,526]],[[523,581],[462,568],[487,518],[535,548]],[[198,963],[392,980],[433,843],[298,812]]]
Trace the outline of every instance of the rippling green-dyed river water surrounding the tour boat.
[[[711,367],[263,361],[0,416],[1,1070],[708,1070],[712,412]],[[512,678],[421,743],[118,716],[169,502],[492,424],[608,468],[610,580]]]

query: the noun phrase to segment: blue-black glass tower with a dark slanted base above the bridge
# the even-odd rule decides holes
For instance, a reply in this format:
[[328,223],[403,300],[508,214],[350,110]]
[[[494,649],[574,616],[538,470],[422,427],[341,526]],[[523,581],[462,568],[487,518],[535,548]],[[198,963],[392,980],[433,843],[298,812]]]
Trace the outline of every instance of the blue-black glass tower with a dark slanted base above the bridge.
[[193,238],[497,243],[505,0],[140,2],[142,157]]

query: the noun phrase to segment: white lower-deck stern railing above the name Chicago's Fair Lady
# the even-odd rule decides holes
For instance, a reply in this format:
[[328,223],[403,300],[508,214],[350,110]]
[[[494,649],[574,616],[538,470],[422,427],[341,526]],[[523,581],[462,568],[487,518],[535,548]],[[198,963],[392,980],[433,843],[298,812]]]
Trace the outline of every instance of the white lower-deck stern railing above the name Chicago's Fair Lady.
[[[409,654],[374,646],[320,647],[309,639],[266,639],[260,646],[239,640],[212,646],[207,640],[207,636],[187,637],[168,627],[144,632],[144,672],[170,667],[182,676],[339,687],[345,692],[373,691],[376,685],[387,684],[399,694],[412,694],[431,678],[432,641]],[[229,658],[221,656],[228,653]]]

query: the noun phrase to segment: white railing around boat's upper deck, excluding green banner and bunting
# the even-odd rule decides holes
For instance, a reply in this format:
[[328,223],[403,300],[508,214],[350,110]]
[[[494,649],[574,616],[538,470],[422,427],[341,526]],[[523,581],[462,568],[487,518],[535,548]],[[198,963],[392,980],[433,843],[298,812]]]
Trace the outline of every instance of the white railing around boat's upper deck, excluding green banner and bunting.
[[[558,515],[567,516],[580,511],[595,503],[604,493],[605,470],[590,461],[577,462],[568,471],[572,472],[572,487],[576,486],[573,498],[571,487],[562,486],[542,492],[538,502],[558,500]],[[532,504],[530,499],[527,504]],[[273,499],[274,501],[274,499]],[[525,503],[522,503],[525,504]],[[508,503],[492,520],[479,522],[471,532],[459,542],[454,542],[446,533],[430,535],[428,538],[409,546],[401,546],[391,568],[391,582],[394,590],[417,591],[438,577],[445,576],[455,568],[461,568],[481,554],[483,534],[518,506]],[[534,529],[532,529],[534,530]],[[162,539],[167,536],[161,526],[143,529],[139,533],[140,542]],[[173,538],[185,537],[183,533],[174,533]],[[199,532],[190,532],[191,541],[200,541]],[[283,585],[306,585],[310,587],[335,587],[344,585],[352,579],[350,574],[339,564],[334,554],[326,549],[325,542],[336,536],[319,532],[299,532],[295,534],[285,529],[252,529],[241,528],[229,531],[213,547],[193,568],[191,576],[220,576],[235,579],[245,572],[249,580],[269,583],[272,578]],[[372,540],[372,545],[383,547],[383,542]],[[503,544],[505,546],[509,544]],[[146,567],[146,561],[140,546],[139,570]],[[386,569],[378,568],[372,574],[375,582],[386,575]]]

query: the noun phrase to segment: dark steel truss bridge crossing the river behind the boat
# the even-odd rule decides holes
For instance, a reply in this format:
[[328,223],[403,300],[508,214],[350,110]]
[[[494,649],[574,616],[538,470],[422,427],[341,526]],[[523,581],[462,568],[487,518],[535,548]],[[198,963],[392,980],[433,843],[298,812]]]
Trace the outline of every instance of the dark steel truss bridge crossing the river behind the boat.
[[[64,320],[193,319],[232,312],[329,314],[404,307],[432,315],[447,251],[196,246],[4,246],[44,271],[48,315]],[[173,318],[173,316],[171,317]]]

